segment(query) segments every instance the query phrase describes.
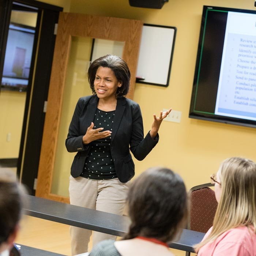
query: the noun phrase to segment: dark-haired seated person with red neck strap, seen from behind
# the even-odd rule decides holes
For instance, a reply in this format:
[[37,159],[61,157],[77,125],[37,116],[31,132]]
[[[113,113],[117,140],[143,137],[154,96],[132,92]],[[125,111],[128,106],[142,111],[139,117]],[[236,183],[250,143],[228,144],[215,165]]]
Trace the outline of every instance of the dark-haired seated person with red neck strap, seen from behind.
[[166,242],[177,238],[187,217],[184,182],[170,169],[146,170],[129,188],[128,211],[124,240],[99,242],[90,256],[172,256]]

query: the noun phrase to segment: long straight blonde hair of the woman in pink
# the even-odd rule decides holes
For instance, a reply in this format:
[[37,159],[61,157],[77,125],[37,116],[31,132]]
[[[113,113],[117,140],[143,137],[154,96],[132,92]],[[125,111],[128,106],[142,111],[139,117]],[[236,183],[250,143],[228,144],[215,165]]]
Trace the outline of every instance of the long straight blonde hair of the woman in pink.
[[196,252],[238,226],[253,226],[256,233],[256,163],[245,158],[228,158],[221,163],[219,178],[222,194],[213,227],[210,235],[195,245]]

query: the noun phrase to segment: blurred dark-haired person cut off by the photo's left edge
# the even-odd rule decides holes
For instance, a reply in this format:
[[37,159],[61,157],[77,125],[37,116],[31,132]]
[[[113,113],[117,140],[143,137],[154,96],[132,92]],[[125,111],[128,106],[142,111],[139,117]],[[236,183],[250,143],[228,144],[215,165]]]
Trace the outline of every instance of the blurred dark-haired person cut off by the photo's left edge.
[[24,188],[11,172],[0,173],[0,255],[9,255],[19,229]]

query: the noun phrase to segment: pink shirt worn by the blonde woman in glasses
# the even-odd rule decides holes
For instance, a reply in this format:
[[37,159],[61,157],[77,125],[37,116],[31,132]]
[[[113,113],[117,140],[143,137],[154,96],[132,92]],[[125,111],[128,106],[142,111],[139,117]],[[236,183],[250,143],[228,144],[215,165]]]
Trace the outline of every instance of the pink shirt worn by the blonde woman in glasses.
[[[207,231],[203,240],[211,233]],[[256,256],[256,234],[247,227],[236,227],[221,234],[215,241],[202,246],[197,256]]]

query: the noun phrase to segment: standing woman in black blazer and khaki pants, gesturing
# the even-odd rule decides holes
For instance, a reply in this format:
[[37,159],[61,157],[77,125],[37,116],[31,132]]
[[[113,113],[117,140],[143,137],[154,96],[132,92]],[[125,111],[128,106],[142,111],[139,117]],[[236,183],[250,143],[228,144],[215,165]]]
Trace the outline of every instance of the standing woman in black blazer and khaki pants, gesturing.
[[[93,95],[78,100],[66,139],[68,152],[77,152],[69,178],[71,204],[122,215],[135,173],[130,150],[141,161],[158,143],[171,109],[153,115],[144,138],[140,107],[124,97],[130,78],[127,63],[117,56],[100,57],[89,67]],[[70,233],[72,255],[87,252],[91,231],[71,226]],[[116,236],[94,232],[93,244],[109,238]]]

